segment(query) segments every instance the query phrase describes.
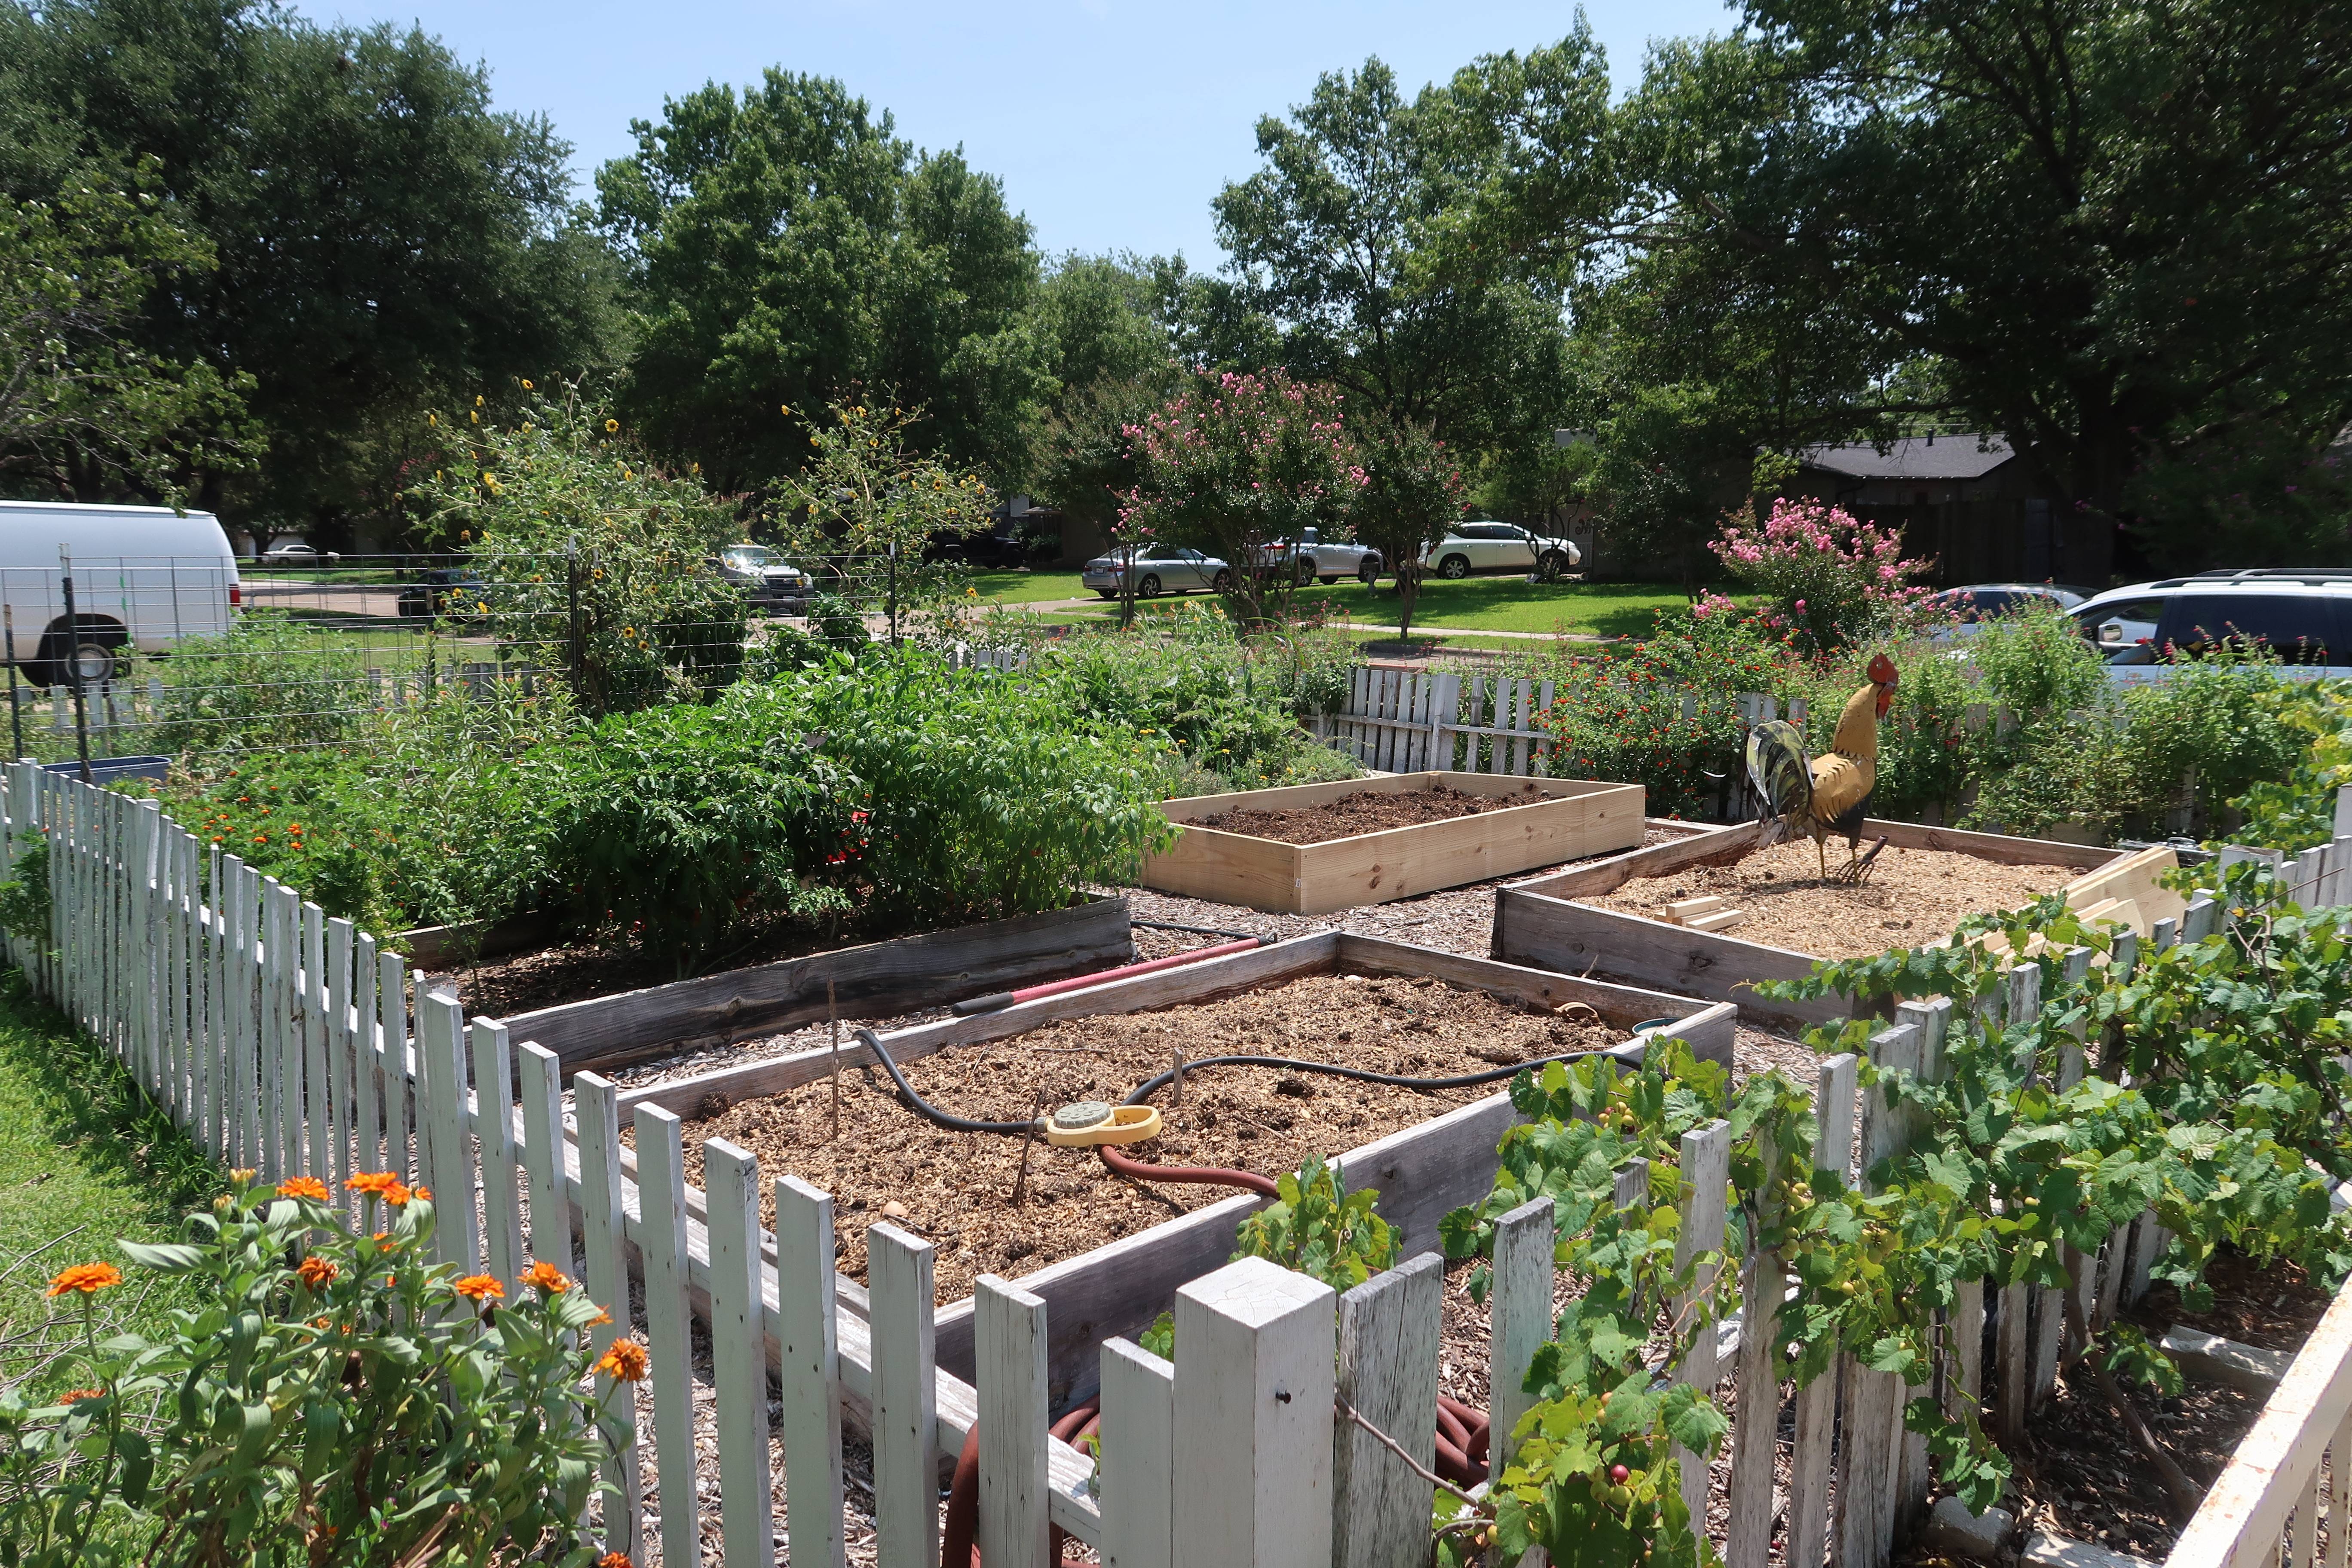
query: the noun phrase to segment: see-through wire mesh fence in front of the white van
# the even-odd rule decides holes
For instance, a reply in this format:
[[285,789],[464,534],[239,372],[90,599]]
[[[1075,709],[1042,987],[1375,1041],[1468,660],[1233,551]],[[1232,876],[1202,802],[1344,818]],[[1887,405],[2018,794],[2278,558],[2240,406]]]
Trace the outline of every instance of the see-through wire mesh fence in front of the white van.
[[[0,569],[14,757],[160,776],[165,759],[346,745],[445,703],[583,715],[689,701],[826,646],[943,637],[953,564],[376,555],[87,557]],[[953,635],[946,639],[953,642]]]

